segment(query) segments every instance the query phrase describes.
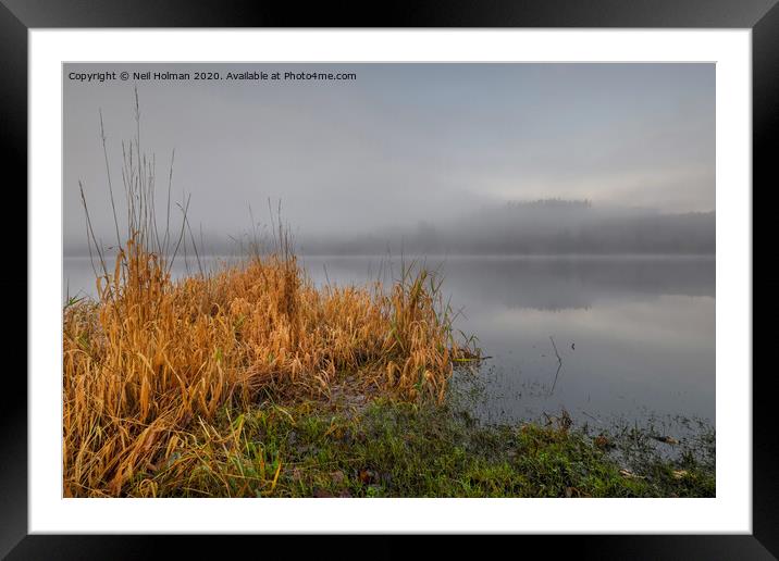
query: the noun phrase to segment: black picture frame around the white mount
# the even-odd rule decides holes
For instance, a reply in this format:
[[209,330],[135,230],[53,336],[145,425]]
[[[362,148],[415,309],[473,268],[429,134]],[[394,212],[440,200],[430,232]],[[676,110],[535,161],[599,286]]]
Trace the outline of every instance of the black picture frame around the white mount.
[[[462,0],[409,1],[371,9],[318,3],[302,9],[293,3],[239,0],[0,0],[0,153],[8,183],[7,214],[25,221],[27,208],[27,30],[30,28],[89,27],[659,27],[751,28],[753,79],[753,194],[776,185],[776,163],[770,140],[779,130],[779,5],[777,0]],[[376,10],[373,12],[372,10]],[[9,172],[11,172],[9,176]],[[9,202],[9,196],[18,200]],[[16,204],[14,204],[16,203]],[[15,209],[15,211],[11,211]],[[754,219],[753,219],[754,220]],[[21,226],[5,220],[5,239],[18,237]],[[11,244],[16,263],[27,263],[27,246]],[[22,254],[24,253],[24,254]],[[21,266],[18,271],[21,271]],[[11,313],[26,317],[22,299],[27,288],[24,275],[2,275]],[[754,266],[753,266],[754,275]],[[754,276],[753,276],[754,278]],[[24,286],[23,286],[24,285]],[[14,308],[17,307],[18,309]],[[767,311],[764,312],[767,314]],[[25,320],[26,325],[26,320]],[[17,329],[21,333],[21,329]],[[27,329],[24,329],[25,336]],[[754,347],[754,342],[753,342]],[[13,354],[11,352],[10,354]],[[20,352],[16,352],[20,354]],[[26,371],[26,359],[23,361]],[[245,545],[252,537],[221,536],[39,536],[27,535],[27,395],[21,369],[7,369],[0,406],[0,556],[9,559],[124,559],[162,554],[161,543],[173,546],[176,557],[189,552],[206,557],[231,545]],[[728,373],[750,376],[751,372]],[[578,557],[598,559],[775,559],[779,556],[779,467],[772,452],[779,448],[774,428],[770,373],[753,376],[753,533],[751,535],[695,536],[555,536],[555,552],[574,548]],[[10,384],[10,385],[9,385]],[[262,554],[289,550],[288,538],[269,536]],[[297,539],[297,538],[296,538]],[[416,546],[410,537],[382,538],[371,551],[392,557]],[[492,539],[492,538],[491,538]],[[494,539],[497,539],[495,537]],[[537,540],[535,537],[525,539]],[[219,541],[222,544],[217,544]],[[459,538],[448,540],[459,547]],[[300,544],[300,541],[296,541]],[[354,543],[353,543],[354,544]],[[254,547],[252,545],[252,547]],[[497,543],[491,544],[498,548]],[[546,545],[546,544],[542,544]],[[297,547],[297,546],[295,546]],[[329,546],[325,546],[329,547]],[[354,547],[354,546],[353,546]],[[511,546],[516,547],[516,546]],[[548,545],[547,545],[548,547]],[[497,549],[494,549],[497,553]],[[338,558],[356,551],[341,546],[331,551]],[[360,557],[378,553],[358,552]],[[519,554],[519,553],[518,553]]]

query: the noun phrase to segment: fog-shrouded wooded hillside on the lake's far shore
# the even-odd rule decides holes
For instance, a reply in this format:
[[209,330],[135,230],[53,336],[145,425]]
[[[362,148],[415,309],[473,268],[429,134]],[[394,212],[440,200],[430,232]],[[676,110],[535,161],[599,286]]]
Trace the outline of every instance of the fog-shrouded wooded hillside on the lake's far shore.
[[714,253],[715,212],[667,214],[589,200],[510,202],[412,232],[300,240],[305,253]]

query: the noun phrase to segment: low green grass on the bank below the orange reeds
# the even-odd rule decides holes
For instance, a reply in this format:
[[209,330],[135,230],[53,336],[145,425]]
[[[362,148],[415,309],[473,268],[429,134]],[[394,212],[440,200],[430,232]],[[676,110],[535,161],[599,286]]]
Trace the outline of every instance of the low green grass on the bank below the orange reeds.
[[[156,473],[157,496],[712,497],[713,464],[642,449],[626,470],[568,423],[483,426],[450,407],[376,401],[223,410],[199,467]],[[617,438],[615,437],[615,441]],[[228,442],[225,445],[224,442]],[[196,447],[197,448],[197,447]]]

